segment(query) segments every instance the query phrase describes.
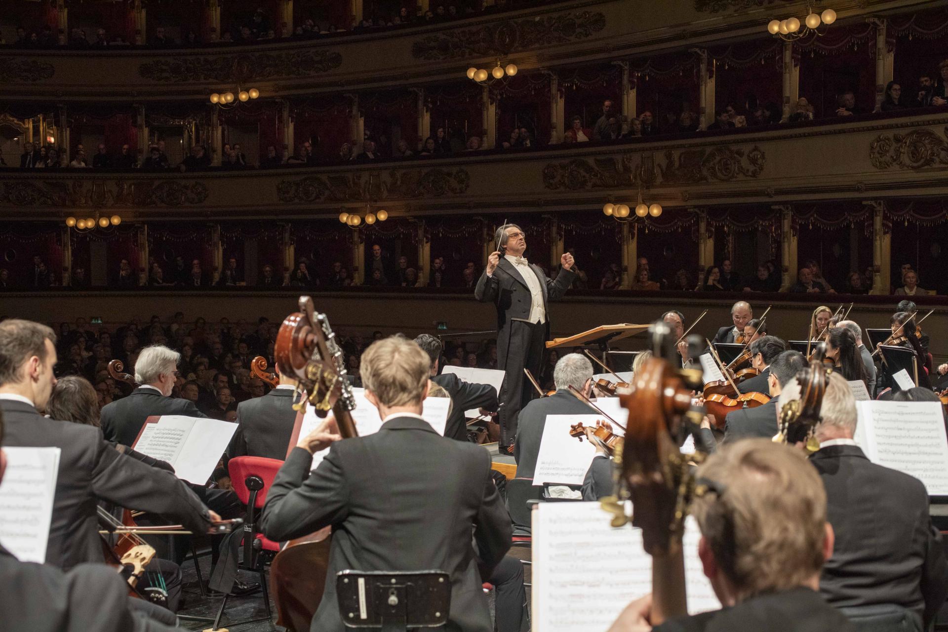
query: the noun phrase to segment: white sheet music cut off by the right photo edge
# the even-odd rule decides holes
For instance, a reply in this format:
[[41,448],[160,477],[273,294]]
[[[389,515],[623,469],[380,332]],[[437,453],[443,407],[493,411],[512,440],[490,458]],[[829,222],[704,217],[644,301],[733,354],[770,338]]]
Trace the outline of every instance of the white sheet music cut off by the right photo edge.
[[929,496],[948,495],[948,436],[939,402],[872,401],[856,406],[857,428],[866,426],[863,441],[869,460],[920,479]]

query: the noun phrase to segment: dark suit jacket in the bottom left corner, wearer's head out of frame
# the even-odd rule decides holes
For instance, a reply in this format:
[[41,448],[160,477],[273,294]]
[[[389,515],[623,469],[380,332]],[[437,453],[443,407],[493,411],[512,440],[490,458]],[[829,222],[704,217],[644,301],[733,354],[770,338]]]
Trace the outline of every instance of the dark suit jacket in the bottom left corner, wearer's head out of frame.
[[[128,585],[115,569],[83,564],[63,572],[20,562],[0,546],[0,612],[4,629],[28,632],[128,632],[137,627]],[[149,632],[171,628],[150,621]]]

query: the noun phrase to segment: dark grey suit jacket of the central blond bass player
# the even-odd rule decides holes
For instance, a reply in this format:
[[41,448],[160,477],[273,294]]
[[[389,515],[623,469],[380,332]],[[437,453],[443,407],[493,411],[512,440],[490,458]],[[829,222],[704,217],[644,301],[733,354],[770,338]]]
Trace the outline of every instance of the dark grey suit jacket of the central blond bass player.
[[333,580],[340,570],[442,569],[451,581],[447,629],[490,632],[471,530],[488,568],[511,533],[483,447],[399,417],[374,435],[333,443],[312,474],[310,463],[293,449],[267,494],[262,527],[279,541],[333,527],[330,581],[311,630],[344,629]]

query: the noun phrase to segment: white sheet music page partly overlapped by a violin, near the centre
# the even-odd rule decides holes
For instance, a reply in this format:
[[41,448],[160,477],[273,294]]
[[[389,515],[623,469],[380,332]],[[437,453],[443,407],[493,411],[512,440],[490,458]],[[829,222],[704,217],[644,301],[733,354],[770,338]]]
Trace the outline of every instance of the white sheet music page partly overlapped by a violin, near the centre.
[[[595,446],[583,438],[580,442],[570,436],[570,426],[594,426],[602,415],[547,415],[543,436],[539,440],[537,469],[534,484],[562,483],[582,485],[586,470],[595,457]],[[618,428],[613,428],[613,431]],[[619,431],[621,432],[621,431]]]

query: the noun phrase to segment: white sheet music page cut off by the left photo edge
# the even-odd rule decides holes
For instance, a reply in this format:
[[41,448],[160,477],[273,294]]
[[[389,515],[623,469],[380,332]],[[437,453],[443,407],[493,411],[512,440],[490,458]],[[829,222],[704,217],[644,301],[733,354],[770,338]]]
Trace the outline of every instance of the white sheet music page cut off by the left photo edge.
[[62,450],[5,447],[7,473],[0,483],[0,543],[21,562],[46,562]]

